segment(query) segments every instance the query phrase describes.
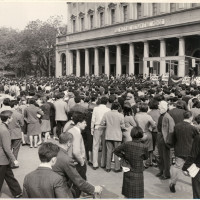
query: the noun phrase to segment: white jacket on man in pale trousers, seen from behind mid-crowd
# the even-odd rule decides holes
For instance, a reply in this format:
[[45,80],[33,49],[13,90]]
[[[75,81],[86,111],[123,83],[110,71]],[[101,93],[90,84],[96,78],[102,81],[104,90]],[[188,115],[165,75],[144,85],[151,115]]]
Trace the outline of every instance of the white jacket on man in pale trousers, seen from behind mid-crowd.
[[108,111],[110,111],[110,108],[103,104],[95,107],[92,113],[91,128],[94,128],[95,126],[95,129],[98,129],[104,114]]

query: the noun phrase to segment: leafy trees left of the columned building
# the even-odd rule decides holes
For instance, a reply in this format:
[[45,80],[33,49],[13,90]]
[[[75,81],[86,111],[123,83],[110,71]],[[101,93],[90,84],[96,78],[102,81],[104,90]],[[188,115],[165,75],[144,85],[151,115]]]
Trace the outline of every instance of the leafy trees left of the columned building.
[[52,16],[45,22],[29,22],[21,32],[0,28],[0,68],[19,71],[20,75],[48,75],[50,66],[53,75],[56,35],[66,34],[61,22],[62,17]]

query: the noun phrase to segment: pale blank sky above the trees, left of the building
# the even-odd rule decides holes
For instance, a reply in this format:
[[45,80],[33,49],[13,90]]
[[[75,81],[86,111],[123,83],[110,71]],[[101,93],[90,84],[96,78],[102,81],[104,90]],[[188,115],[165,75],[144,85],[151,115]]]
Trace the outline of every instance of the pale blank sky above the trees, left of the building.
[[66,1],[3,1],[0,0],[0,27],[23,30],[29,21],[46,21],[50,16],[62,15],[67,23]]

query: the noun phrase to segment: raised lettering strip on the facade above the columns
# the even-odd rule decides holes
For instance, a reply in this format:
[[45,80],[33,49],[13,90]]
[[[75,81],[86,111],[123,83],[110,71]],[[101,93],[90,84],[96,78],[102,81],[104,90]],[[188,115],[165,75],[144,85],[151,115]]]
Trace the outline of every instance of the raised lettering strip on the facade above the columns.
[[135,25],[122,26],[122,27],[116,28],[115,33],[133,31],[133,30],[155,27],[155,26],[162,26],[162,25],[165,25],[165,20],[157,19],[157,20],[143,22],[143,23],[139,23],[139,24],[135,24]]

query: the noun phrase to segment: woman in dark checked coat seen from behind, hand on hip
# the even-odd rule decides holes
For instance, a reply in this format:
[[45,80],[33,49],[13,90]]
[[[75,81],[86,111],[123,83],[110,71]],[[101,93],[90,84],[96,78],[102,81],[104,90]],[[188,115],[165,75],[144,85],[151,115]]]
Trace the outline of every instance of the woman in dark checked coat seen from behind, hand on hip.
[[140,127],[132,128],[131,137],[132,141],[120,145],[114,151],[130,169],[124,172],[122,194],[126,198],[144,198],[143,160],[148,158],[148,148],[141,141],[143,131]]

